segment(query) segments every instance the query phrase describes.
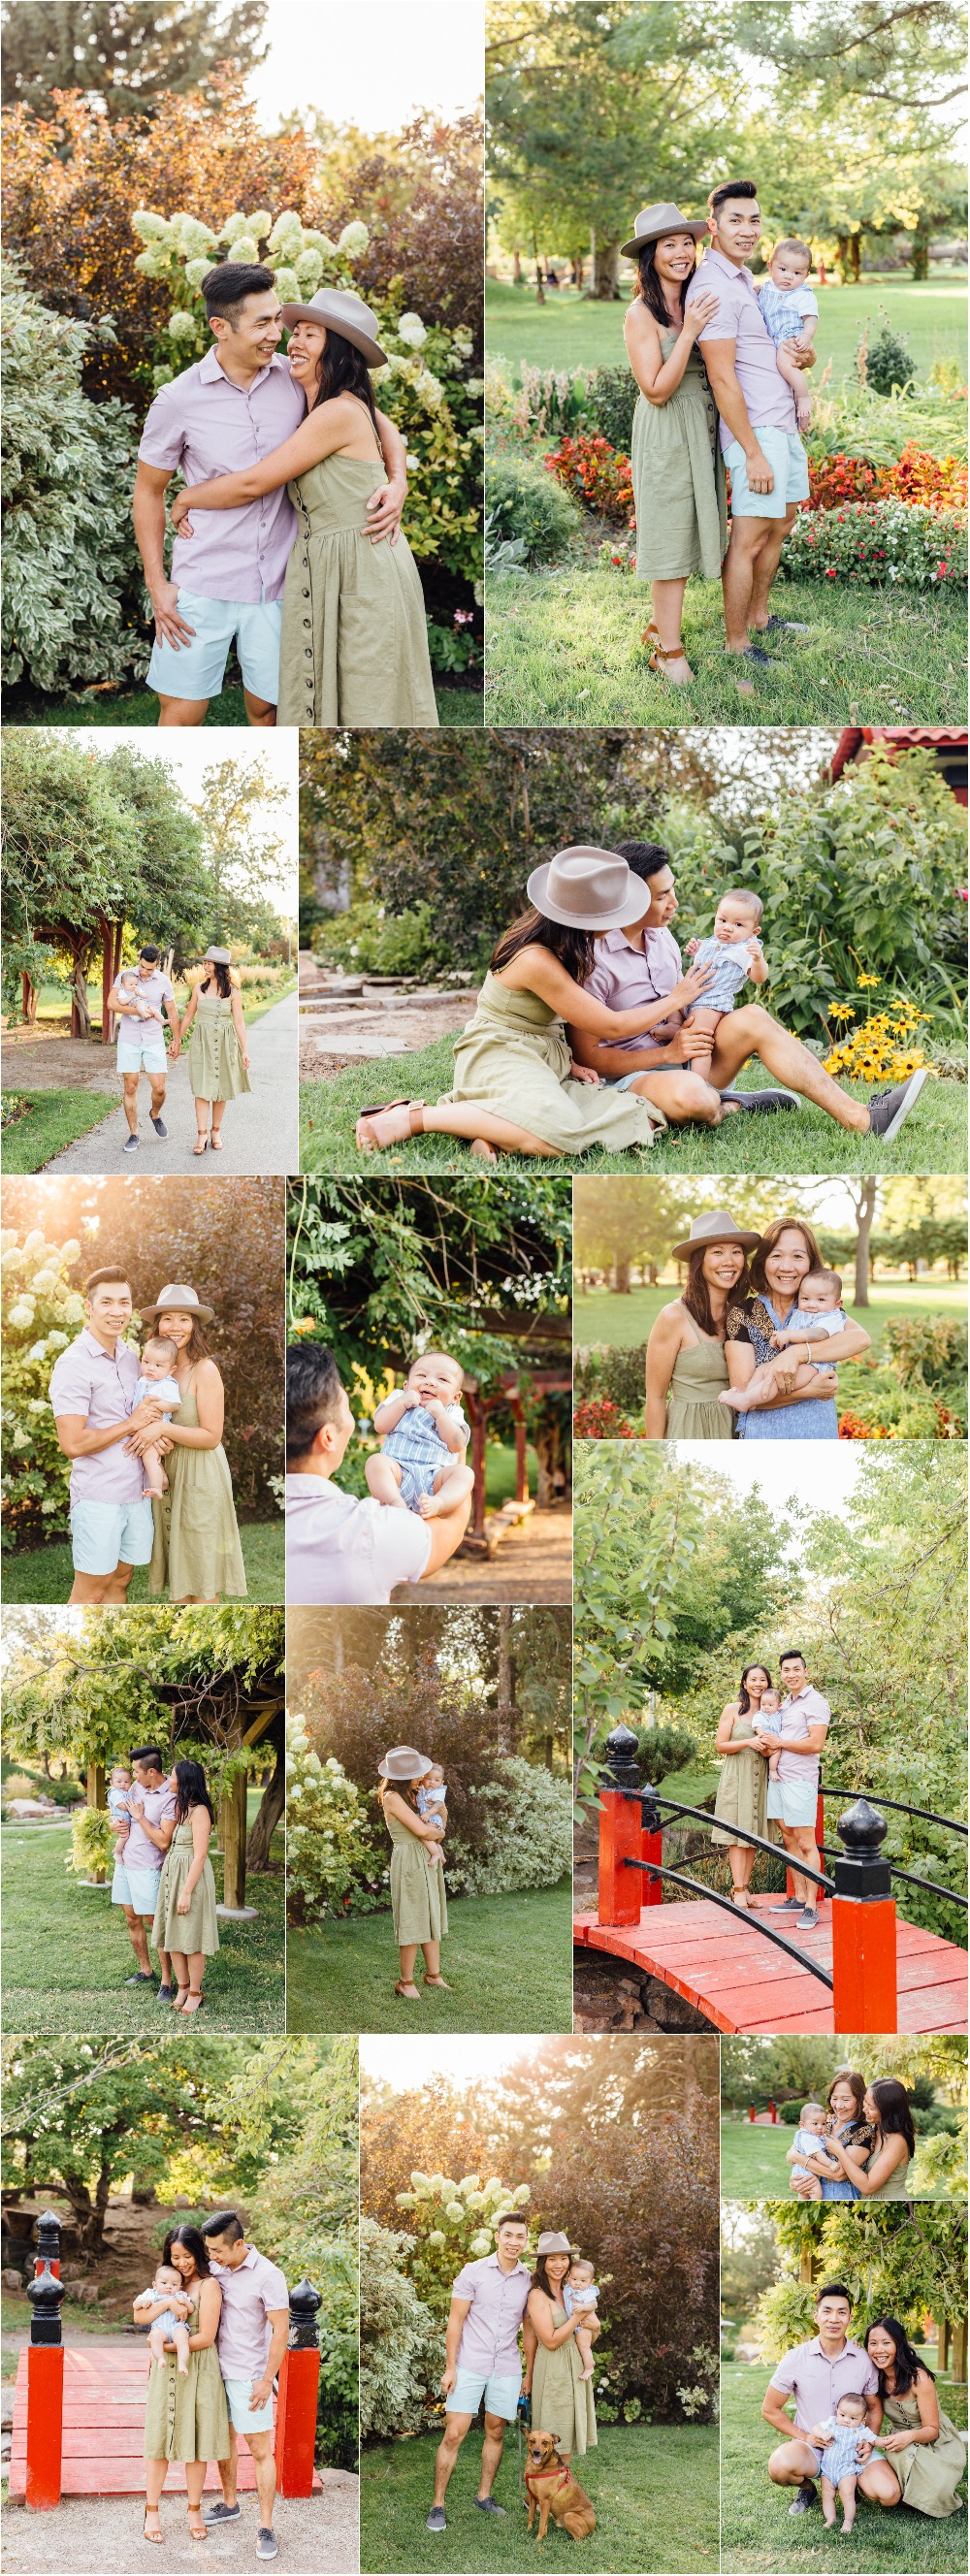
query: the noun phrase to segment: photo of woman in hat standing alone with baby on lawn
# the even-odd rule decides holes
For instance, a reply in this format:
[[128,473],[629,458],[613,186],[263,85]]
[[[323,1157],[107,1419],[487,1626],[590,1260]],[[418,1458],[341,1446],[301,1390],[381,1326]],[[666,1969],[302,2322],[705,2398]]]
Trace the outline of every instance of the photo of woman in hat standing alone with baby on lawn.
[[288,2030],[571,2030],[569,1667],[569,1607],[288,1613]]

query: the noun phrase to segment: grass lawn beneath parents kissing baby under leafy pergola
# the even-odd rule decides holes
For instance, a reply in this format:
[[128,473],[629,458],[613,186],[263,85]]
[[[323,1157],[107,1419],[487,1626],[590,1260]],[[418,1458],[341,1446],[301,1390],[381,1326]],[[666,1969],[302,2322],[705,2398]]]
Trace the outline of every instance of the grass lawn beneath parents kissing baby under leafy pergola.
[[[250,1803],[255,1811],[257,1801]],[[134,1968],[126,1922],[105,1888],[64,1870],[69,1826],[3,1826],[3,1929],[8,2030],[167,2030],[149,1986],[126,1986]],[[255,1924],[219,1924],[221,1950],[206,1971],[203,2030],[283,2030],[283,1832],[275,1868],[250,1878]],[[214,1852],[216,1899],[221,1857]]]

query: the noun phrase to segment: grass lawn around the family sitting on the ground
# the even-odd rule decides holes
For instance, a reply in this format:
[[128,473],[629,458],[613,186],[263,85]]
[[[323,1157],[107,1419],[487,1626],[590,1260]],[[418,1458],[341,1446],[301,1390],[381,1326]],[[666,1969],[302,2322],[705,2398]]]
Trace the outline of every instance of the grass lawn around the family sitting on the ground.
[[[360,1172],[355,1123],[368,1100],[440,1100],[453,1079],[453,1041],[435,1038],[412,1056],[386,1056],[381,1064],[352,1064],[332,1082],[301,1084],[301,1172]],[[751,1059],[736,1090],[769,1090],[772,1077]],[[865,1084],[846,1084],[854,1100],[867,1100]],[[661,1128],[654,1146],[605,1154],[592,1146],[581,1172],[965,1172],[967,1170],[967,1092],[960,1082],[926,1082],[913,1115],[895,1144],[854,1136],[823,1110],[803,1108],[774,1118],[733,1113],[720,1128]],[[471,1172],[468,1146],[458,1136],[409,1136],[389,1154],[368,1157],[381,1172]],[[509,1172],[548,1172],[548,1159],[507,1154]]]

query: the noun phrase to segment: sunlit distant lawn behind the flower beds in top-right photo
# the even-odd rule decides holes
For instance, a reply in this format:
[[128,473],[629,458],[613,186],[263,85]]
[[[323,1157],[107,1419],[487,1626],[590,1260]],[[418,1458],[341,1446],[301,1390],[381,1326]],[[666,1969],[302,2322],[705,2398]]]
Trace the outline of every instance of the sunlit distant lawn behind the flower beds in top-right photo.
[[[502,286],[486,281],[486,350],[491,363],[509,361],[515,381],[527,366],[625,366],[623,314],[625,294],[618,304],[587,304],[571,289],[535,301],[535,286]],[[883,327],[883,312],[906,348],[913,353],[916,376],[929,376],[934,358],[965,358],[967,281],[872,276],[862,286],[831,286],[818,296],[818,368],[831,358],[831,381],[854,379],[854,353],[862,325],[870,322],[870,340]]]

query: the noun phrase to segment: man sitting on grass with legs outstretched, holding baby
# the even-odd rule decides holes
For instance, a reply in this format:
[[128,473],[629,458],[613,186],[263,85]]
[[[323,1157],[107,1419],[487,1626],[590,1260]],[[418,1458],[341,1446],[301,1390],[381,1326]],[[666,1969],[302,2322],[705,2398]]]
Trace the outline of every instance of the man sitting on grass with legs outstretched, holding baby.
[[[654,840],[618,840],[615,848],[636,876],[648,878],[651,909],[641,912],[636,922],[625,922],[623,930],[607,930],[597,940],[597,963],[587,992],[597,1002],[605,1002],[607,1010],[648,1010],[651,1025],[643,1038],[592,1038],[589,1030],[571,1028],[569,1046],[576,1064],[589,1064],[602,1082],[625,1082],[643,1100],[654,1100],[672,1126],[679,1126],[684,1118],[697,1118],[702,1126],[720,1126],[723,1118],[749,1110],[795,1110],[798,1092],[857,1136],[880,1136],[883,1144],[890,1144],[919,1100],[926,1066],[911,1074],[908,1082],[898,1082],[895,1090],[875,1092],[862,1105],[839,1090],[839,1082],[826,1074],[818,1056],[800,1038],[792,1038],[780,1020],[772,1020],[772,1012],[762,1002],[744,1002],[741,1010],[728,1010],[718,1020],[713,1038],[702,1038],[700,1033],[684,1036],[684,999],[702,999],[705,974],[690,971],[684,976],[682,953],[669,927],[679,909],[669,850],[661,850]],[[687,1056],[697,1059],[708,1048],[708,1072],[692,1072]],[[792,1087],[731,1092],[731,1082],[749,1056],[759,1056],[777,1082]]]

